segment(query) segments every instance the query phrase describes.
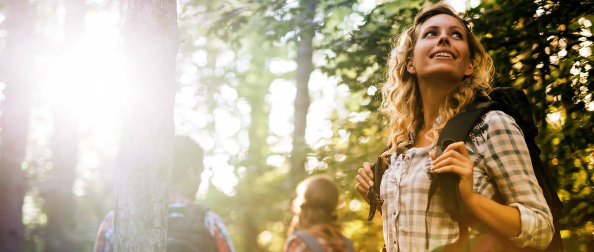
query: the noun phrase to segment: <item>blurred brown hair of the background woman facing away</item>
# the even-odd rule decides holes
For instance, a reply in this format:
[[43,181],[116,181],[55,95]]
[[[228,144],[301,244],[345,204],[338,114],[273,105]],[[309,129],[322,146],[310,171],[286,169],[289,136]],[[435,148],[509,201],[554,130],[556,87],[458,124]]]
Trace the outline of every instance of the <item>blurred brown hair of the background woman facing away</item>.
[[339,195],[338,187],[328,175],[314,175],[299,183],[289,235],[300,230],[326,240],[340,237],[341,225],[336,211]]

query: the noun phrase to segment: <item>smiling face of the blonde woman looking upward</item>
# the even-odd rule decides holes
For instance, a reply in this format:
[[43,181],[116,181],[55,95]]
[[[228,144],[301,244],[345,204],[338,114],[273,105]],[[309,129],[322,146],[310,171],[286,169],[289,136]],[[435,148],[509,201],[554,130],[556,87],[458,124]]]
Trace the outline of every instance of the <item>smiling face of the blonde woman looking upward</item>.
[[426,80],[462,81],[473,69],[467,40],[460,21],[446,14],[434,15],[418,30],[406,70]]

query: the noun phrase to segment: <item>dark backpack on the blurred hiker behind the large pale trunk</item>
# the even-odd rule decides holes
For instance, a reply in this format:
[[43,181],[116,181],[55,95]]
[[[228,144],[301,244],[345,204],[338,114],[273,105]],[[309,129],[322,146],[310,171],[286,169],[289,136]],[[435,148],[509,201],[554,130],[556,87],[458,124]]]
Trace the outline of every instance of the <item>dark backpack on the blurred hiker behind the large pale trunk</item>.
[[208,207],[169,206],[168,252],[217,252],[216,242],[204,225]]

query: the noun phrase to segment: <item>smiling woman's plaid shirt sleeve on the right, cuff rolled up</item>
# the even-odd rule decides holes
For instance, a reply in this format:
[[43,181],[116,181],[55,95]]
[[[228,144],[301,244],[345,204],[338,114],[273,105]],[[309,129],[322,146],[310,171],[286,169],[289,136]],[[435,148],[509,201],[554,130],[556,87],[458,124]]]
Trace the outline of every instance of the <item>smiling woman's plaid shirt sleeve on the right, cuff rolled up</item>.
[[552,215],[534,175],[522,130],[501,111],[492,113],[486,123],[486,172],[504,203],[520,211],[520,235],[510,241],[518,247],[544,249],[554,232]]

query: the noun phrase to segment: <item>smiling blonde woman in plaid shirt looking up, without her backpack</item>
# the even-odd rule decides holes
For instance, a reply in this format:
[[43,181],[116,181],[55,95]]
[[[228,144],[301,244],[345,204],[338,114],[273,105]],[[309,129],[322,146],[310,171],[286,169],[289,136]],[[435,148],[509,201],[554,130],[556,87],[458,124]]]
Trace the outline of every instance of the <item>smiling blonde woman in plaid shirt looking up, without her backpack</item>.
[[[475,97],[491,92],[491,57],[469,24],[448,5],[436,4],[415,17],[388,61],[381,112],[390,127],[388,167],[380,184],[387,251],[459,251],[459,229],[444,211],[440,193],[428,202],[433,172],[459,175],[467,218],[504,237],[511,248],[546,248],[552,216],[535,178],[523,133],[514,119],[490,111],[469,141],[433,152],[445,124]],[[373,185],[372,164],[356,176],[365,198]],[[430,208],[428,207],[430,206]]]

